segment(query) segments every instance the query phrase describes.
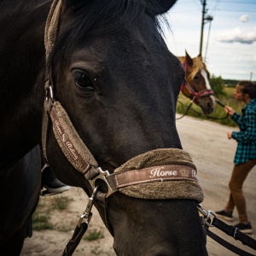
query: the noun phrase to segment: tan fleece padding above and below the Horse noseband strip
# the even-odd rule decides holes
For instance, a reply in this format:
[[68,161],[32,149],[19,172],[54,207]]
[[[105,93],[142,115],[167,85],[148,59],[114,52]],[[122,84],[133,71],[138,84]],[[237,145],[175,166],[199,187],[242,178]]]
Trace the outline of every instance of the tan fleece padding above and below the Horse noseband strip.
[[[196,167],[186,151],[178,148],[160,148],[140,154],[115,169],[114,172],[142,169],[148,166],[185,165]],[[201,186],[191,180],[141,183],[119,189],[119,192],[141,199],[192,199],[202,202],[204,198]]]

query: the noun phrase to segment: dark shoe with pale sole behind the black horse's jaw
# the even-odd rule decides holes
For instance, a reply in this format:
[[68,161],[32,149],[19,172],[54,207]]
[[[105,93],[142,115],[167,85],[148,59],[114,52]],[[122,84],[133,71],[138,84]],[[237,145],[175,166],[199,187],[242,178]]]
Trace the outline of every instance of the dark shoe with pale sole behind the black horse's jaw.
[[55,174],[51,171],[48,164],[45,164],[42,168],[42,187],[52,194],[61,193],[71,189],[70,186],[61,183],[61,181],[55,177]]

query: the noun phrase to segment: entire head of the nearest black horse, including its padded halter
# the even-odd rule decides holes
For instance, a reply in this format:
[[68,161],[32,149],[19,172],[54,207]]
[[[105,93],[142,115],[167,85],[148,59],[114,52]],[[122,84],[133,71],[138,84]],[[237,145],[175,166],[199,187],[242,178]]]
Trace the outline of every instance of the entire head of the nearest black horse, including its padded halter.
[[50,22],[46,35],[55,38],[44,104],[49,165],[88,195],[100,186],[95,204],[118,255],[204,255],[193,188],[201,192],[175,125],[184,71],[156,18],[175,1],[55,2],[60,24]]

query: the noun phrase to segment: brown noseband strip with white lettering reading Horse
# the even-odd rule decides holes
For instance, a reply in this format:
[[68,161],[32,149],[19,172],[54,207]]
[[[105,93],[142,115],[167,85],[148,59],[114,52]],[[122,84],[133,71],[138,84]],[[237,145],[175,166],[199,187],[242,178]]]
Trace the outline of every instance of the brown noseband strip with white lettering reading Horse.
[[171,180],[191,180],[197,182],[195,168],[183,165],[150,166],[139,170],[114,172],[112,175],[117,189],[139,183]]

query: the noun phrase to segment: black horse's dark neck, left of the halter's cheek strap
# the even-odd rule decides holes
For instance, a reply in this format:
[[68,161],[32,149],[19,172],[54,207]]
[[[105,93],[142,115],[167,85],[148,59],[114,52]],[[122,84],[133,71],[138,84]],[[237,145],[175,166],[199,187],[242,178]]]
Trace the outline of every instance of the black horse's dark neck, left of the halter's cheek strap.
[[[46,20],[49,3],[34,2],[18,7],[9,3],[9,9],[0,18],[0,29],[5,27],[2,38],[6,42],[1,45],[0,54],[8,53],[1,55],[4,65],[0,71],[3,93],[0,170],[12,166],[41,139],[45,70],[42,20]],[[5,5],[0,3],[0,9]],[[13,11],[9,12],[10,9]]]

